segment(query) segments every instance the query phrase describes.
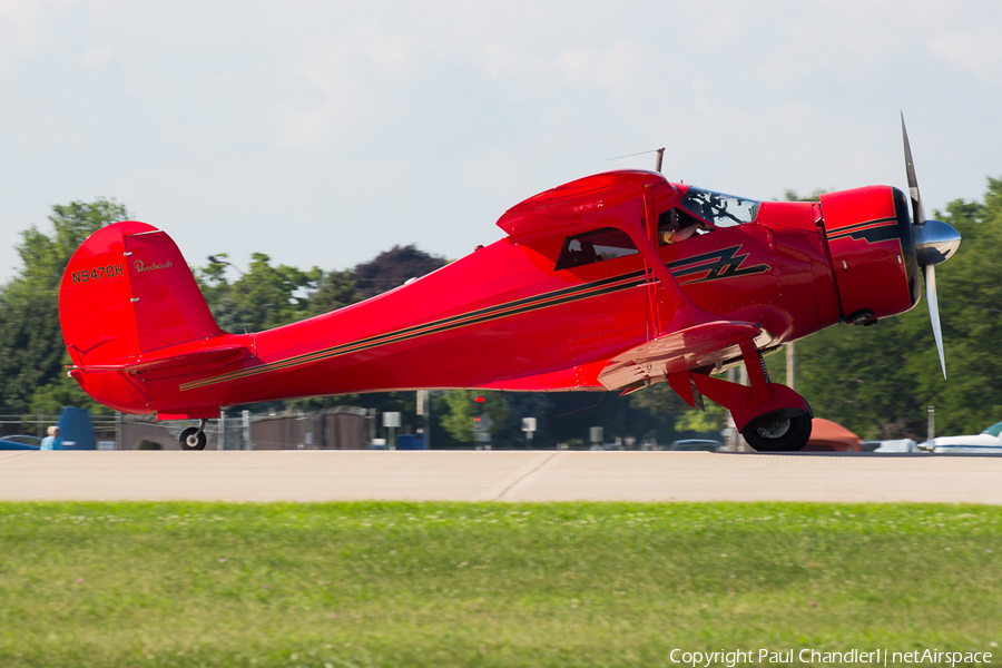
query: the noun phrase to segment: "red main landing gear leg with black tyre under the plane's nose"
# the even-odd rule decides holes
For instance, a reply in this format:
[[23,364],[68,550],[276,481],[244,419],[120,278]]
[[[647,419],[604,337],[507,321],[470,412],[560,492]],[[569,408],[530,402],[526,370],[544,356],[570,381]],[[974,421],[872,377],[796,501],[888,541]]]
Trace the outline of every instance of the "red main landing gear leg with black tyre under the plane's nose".
[[707,373],[668,375],[668,383],[690,406],[704,394],[730,411],[735,426],[759,452],[797,452],[807,444],[814,413],[804,397],[769,382],[762,353],[748,340],[740,344],[749,385],[728,383]]

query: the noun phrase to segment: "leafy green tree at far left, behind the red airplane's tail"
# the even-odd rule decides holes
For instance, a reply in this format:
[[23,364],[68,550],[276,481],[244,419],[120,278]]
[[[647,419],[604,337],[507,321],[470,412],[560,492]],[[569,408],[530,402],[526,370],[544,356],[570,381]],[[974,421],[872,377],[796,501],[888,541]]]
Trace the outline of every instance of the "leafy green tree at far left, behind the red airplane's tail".
[[66,344],[59,328],[62,273],[90,234],[128,217],[125,205],[115,200],[71,202],[52,207],[51,234],[35,226],[21,233],[17,252],[23,266],[0,287],[0,412],[28,412],[39,389],[65,385]]

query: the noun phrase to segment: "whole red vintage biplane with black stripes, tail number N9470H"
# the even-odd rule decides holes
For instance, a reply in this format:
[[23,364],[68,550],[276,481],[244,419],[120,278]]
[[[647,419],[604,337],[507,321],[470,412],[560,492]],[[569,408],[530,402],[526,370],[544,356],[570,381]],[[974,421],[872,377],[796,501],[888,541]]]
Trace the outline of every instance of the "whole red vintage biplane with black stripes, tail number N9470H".
[[[632,392],[667,382],[728,409],[760,451],[795,451],[812,411],[769,381],[763,353],[839,322],[908,311],[925,274],[943,363],[936,264],[960,245],[926,220],[912,166],[890,186],[821,203],[759,203],[621,170],[531,197],[507,234],[365,302],[254,334],[219,330],[164,232],[94,233],[62,277],[69,374],[125,413],[200,419],[298,396],[415,389]],[[744,363],[749,385],[710,375]]]

